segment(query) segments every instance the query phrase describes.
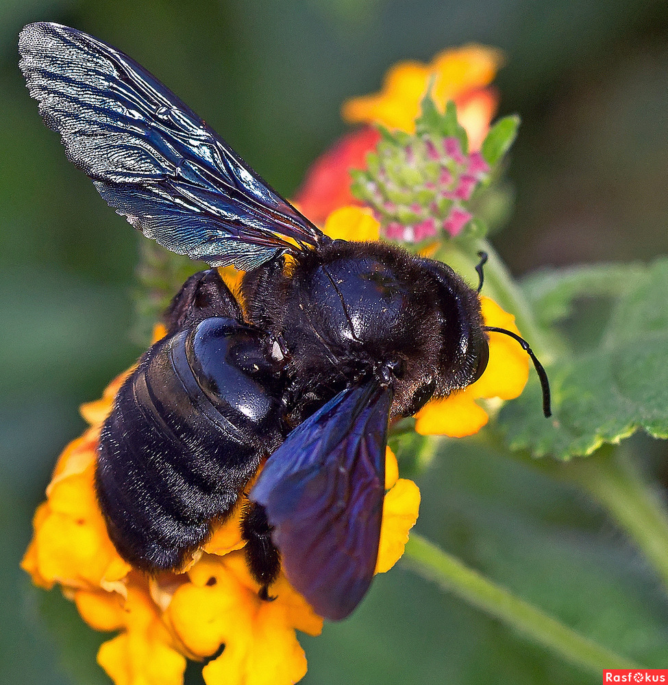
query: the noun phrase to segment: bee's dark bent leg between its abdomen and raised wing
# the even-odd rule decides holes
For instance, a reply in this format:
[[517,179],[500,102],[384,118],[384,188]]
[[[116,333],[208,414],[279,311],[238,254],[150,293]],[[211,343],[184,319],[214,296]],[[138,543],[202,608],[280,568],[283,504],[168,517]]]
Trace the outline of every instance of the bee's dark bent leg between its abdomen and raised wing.
[[198,271],[190,276],[174,296],[163,320],[167,330],[174,332],[211,316],[243,321],[241,308],[218,269]]

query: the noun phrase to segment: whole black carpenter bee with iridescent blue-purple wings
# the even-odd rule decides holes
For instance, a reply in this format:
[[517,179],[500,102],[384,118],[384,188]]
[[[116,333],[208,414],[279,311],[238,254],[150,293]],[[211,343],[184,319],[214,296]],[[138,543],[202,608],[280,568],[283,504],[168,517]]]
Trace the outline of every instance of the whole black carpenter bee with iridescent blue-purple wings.
[[[34,23],[19,51],[45,123],[116,212],[175,253],[247,272],[243,310],[215,268],[190,277],[116,397],[97,463],[114,544],[145,571],[178,569],[266,460],[242,523],[260,595],[282,565],[343,619],[378,556],[388,421],[486,367],[495,329],[478,292],[441,262],[327,238],[101,40]],[[513,337],[547,416],[545,372]]]

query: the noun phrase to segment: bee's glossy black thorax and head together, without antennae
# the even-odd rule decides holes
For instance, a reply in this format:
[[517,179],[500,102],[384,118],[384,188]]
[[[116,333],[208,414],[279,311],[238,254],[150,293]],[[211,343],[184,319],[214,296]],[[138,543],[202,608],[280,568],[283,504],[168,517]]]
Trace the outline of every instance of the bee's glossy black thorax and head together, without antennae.
[[410,416],[484,371],[480,299],[449,266],[380,242],[336,241],[308,273],[319,334],[393,385],[393,414]]

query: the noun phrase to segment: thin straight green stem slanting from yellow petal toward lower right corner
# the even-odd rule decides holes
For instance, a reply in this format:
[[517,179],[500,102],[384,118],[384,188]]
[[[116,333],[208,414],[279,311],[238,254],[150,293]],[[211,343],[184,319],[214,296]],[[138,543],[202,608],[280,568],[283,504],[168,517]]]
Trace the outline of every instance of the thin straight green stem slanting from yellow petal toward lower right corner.
[[562,658],[600,674],[603,669],[636,669],[630,660],[593,643],[415,532],[410,534],[404,562],[416,573],[525,634]]

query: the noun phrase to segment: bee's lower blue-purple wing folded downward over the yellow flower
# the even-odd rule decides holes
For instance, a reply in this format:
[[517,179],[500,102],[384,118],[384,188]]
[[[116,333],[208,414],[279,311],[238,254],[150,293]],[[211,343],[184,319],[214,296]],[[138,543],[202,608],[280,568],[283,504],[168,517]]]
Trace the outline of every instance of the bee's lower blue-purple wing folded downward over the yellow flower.
[[288,435],[249,496],[267,510],[288,580],[330,620],[373,579],[391,402],[375,382],[343,390]]

